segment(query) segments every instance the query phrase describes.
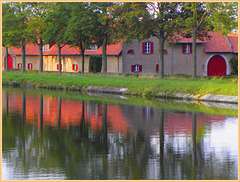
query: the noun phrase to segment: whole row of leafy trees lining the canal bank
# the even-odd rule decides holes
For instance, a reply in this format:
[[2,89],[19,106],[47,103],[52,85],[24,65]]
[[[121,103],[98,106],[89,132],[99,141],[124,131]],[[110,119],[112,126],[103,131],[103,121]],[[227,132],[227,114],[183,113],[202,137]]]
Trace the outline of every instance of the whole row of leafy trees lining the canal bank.
[[[207,31],[227,34],[237,27],[237,3],[171,3],[171,2],[79,2],[3,3],[3,46],[21,47],[23,73],[25,46],[39,46],[39,72],[43,71],[42,47],[61,48],[66,44],[82,55],[91,44],[102,46],[102,73],[107,73],[107,45],[121,40],[130,42],[149,37],[159,40],[159,76],[164,77],[164,42],[178,39],[177,34],[193,38],[193,78],[196,78],[196,39]],[[7,58],[7,57],[6,57]],[[59,69],[61,73],[61,69]]]

